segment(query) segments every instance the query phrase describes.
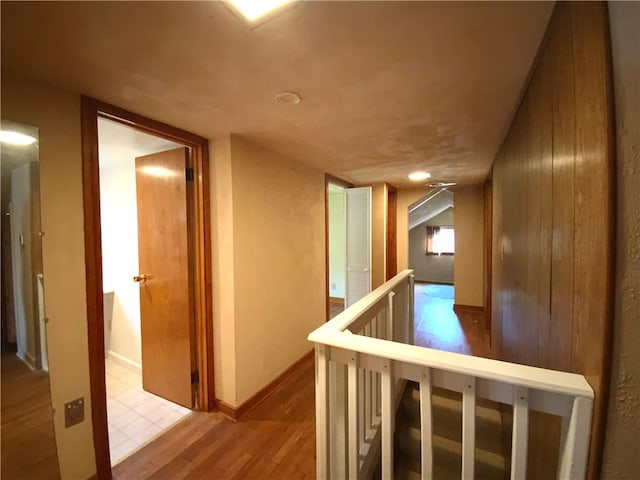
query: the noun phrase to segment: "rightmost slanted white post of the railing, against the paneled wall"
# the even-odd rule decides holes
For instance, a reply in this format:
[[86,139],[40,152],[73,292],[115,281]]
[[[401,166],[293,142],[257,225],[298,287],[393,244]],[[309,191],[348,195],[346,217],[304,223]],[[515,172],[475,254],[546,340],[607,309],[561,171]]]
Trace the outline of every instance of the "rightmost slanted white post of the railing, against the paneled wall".
[[590,398],[575,397],[571,416],[562,418],[558,465],[558,478],[561,480],[585,477],[592,408],[593,400]]

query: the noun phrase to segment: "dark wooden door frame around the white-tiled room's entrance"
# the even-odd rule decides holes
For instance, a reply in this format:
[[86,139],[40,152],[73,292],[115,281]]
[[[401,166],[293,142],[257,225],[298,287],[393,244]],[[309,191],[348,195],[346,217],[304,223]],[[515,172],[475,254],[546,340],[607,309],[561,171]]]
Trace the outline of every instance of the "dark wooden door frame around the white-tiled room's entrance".
[[84,209],[85,276],[91,420],[97,477],[111,479],[107,395],[105,385],[102,240],[98,118],[108,118],[144,133],[191,147],[194,170],[194,298],[196,350],[199,370],[199,409],[214,409],[213,320],[211,299],[211,229],[209,206],[209,142],[206,138],[169,126],[99,100],[81,99],[82,180]]

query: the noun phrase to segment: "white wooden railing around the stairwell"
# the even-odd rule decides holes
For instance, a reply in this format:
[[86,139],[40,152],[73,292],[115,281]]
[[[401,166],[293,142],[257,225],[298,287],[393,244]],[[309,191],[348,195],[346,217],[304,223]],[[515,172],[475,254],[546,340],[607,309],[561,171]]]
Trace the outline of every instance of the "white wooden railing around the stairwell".
[[405,270],[309,335],[316,352],[317,477],[393,479],[396,409],[420,385],[421,476],[433,477],[431,389],[462,394],[462,478],[474,477],[475,404],[513,406],[511,478],[526,477],[529,412],[562,417],[558,478],[584,478],[593,390],[582,375],[413,343],[413,271]]

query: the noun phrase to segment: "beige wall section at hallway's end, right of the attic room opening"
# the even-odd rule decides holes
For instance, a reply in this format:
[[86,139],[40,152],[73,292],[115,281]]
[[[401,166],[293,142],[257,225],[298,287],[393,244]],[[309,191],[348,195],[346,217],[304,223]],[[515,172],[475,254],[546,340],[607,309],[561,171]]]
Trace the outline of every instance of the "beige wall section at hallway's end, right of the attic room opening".
[[453,192],[456,255],[453,265],[456,305],[484,305],[484,200],[481,185]]

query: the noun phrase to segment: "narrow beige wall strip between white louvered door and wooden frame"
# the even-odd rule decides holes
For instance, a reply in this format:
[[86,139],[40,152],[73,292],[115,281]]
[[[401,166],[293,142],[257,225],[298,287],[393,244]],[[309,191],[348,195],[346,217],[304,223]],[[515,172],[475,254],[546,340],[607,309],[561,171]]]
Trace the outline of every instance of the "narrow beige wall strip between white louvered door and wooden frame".
[[371,290],[385,282],[387,244],[387,186],[371,187]]

